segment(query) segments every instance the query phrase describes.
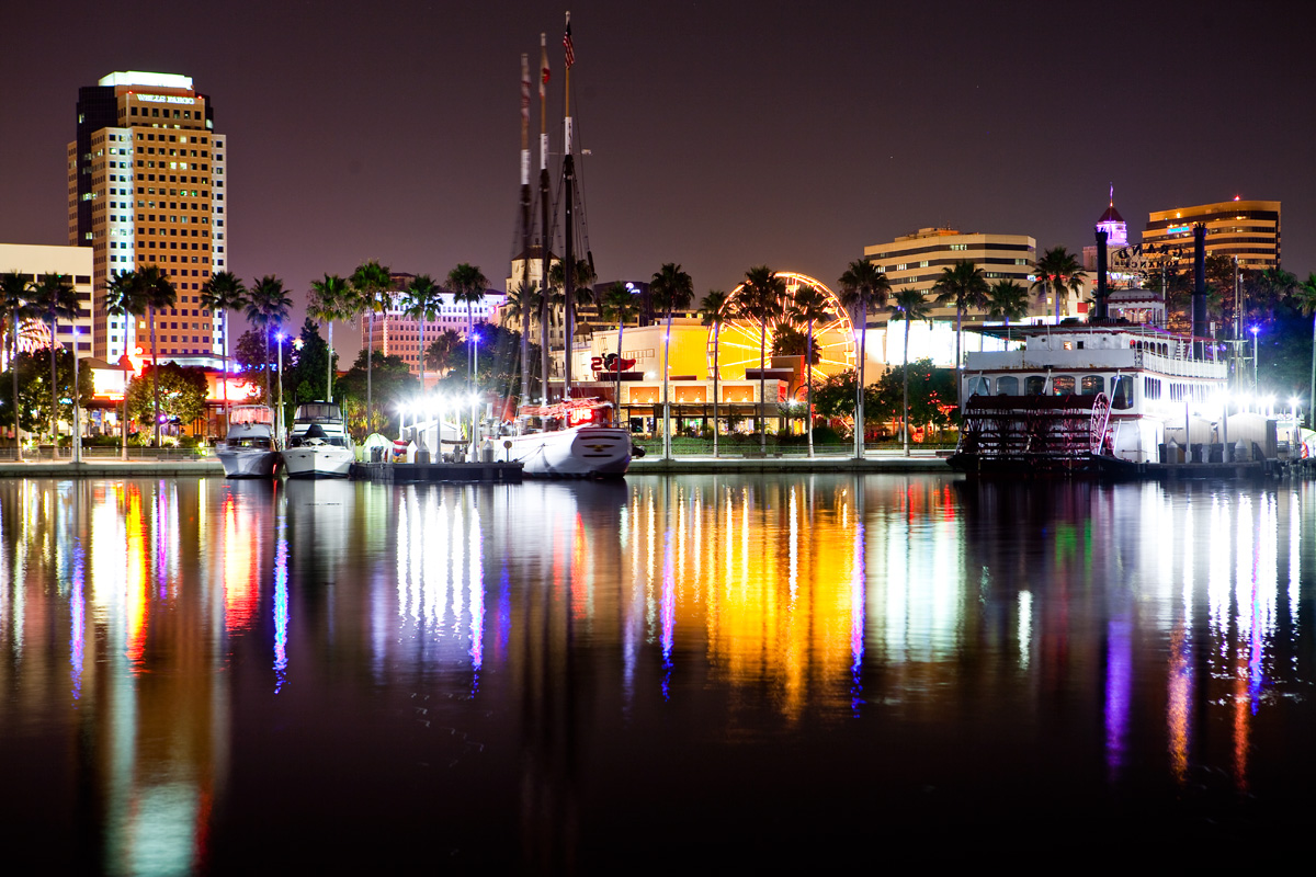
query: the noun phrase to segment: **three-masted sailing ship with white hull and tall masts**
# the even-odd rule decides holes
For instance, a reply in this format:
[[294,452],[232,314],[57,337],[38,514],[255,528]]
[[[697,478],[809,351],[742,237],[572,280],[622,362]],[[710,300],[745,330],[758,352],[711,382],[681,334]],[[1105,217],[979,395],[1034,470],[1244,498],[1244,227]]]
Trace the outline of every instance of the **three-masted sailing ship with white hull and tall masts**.
[[[562,398],[555,404],[549,404],[549,375],[547,375],[547,283],[549,283],[549,237],[551,226],[549,224],[549,133],[546,122],[545,92],[549,80],[549,58],[545,36],[540,34],[540,55],[542,75],[540,80],[540,218],[541,218],[541,246],[540,254],[544,259],[541,284],[542,309],[540,314],[540,350],[542,351],[542,388],[544,396],[540,405],[528,405],[524,397],[517,413],[516,423],[512,425],[511,434],[503,437],[501,444],[505,459],[520,460],[524,464],[524,473],[528,476],[547,477],[607,477],[621,476],[630,467],[630,431],[615,426],[615,412],[611,402],[600,398],[572,398],[571,396],[571,337],[572,337],[572,301],[575,296],[575,241],[572,212],[575,209],[575,154],[571,130],[571,66],[575,63],[575,47],[571,41],[571,13],[567,13],[566,33],[562,37],[562,47],[566,55],[566,99],[563,103],[563,149],[562,149],[562,185],[565,201],[563,222],[563,285],[566,295],[566,355],[563,362]],[[525,259],[529,260],[529,82],[526,67],[522,64],[522,100],[521,100],[521,204],[522,204],[522,242]],[[526,275],[529,271],[526,271]],[[524,323],[522,323],[524,325]],[[522,369],[526,363],[522,359]]]

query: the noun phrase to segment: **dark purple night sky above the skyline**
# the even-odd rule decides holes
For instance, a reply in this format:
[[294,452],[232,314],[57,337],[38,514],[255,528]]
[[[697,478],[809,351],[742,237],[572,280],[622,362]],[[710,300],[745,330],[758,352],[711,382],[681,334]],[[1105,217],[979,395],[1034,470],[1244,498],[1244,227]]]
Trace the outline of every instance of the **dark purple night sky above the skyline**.
[[[563,7],[11,4],[0,241],[66,242],[79,85],[179,72],[229,141],[232,268],[304,301],[378,258],[501,285],[516,246],[520,53]],[[920,226],[1092,238],[1109,181],[1146,213],[1283,201],[1316,268],[1316,12],[1305,4],[571,4],[574,109],[601,279],[679,262],[703,295],[767,263],[833,284]],[[1095,13],[1095,14],[1094,14]],[[532,118],[538,118],[537,99]],[[532,131],[532,138],[536,131]],[[536,159],[537,162],[537,159]],[[300,317],[299,317],[300,318]],[[343,352],[347,352],[346,350]]]

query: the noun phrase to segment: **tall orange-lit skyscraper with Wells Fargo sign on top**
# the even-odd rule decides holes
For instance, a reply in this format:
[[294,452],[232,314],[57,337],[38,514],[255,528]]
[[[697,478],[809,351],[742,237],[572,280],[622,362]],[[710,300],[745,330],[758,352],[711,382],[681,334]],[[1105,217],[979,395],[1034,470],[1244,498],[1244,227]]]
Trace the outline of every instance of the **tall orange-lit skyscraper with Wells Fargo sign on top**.
[[78,89],[68,241],[93,252],[93,355],[116,362],[151,352],[147,318],[107,314],[105,287],[155,264],[178,291],[178,305],[155,314],[161,359],[222,364],[222,321],[201,308],[200,291],[228,263],[225,141],[191,76],[114,72]]

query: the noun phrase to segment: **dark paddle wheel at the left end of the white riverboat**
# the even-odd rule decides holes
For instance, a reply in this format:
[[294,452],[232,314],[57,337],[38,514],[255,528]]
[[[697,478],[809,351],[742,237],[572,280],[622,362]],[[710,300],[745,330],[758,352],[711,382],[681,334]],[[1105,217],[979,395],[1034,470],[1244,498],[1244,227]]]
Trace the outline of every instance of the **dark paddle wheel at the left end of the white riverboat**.
[[1086,472],[1101,451],[1109,415],[1105,393],[973,396],[951,464],[966,472]]

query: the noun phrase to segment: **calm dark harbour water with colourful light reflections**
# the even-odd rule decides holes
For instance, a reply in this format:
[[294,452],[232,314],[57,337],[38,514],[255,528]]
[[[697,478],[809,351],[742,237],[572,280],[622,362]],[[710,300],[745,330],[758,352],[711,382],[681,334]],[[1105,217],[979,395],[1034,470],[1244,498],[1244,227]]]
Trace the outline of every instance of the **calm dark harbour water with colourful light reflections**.
[[1265,859],[1316,815],[1313,521],[1302,481],[0,481],[0,861]]

